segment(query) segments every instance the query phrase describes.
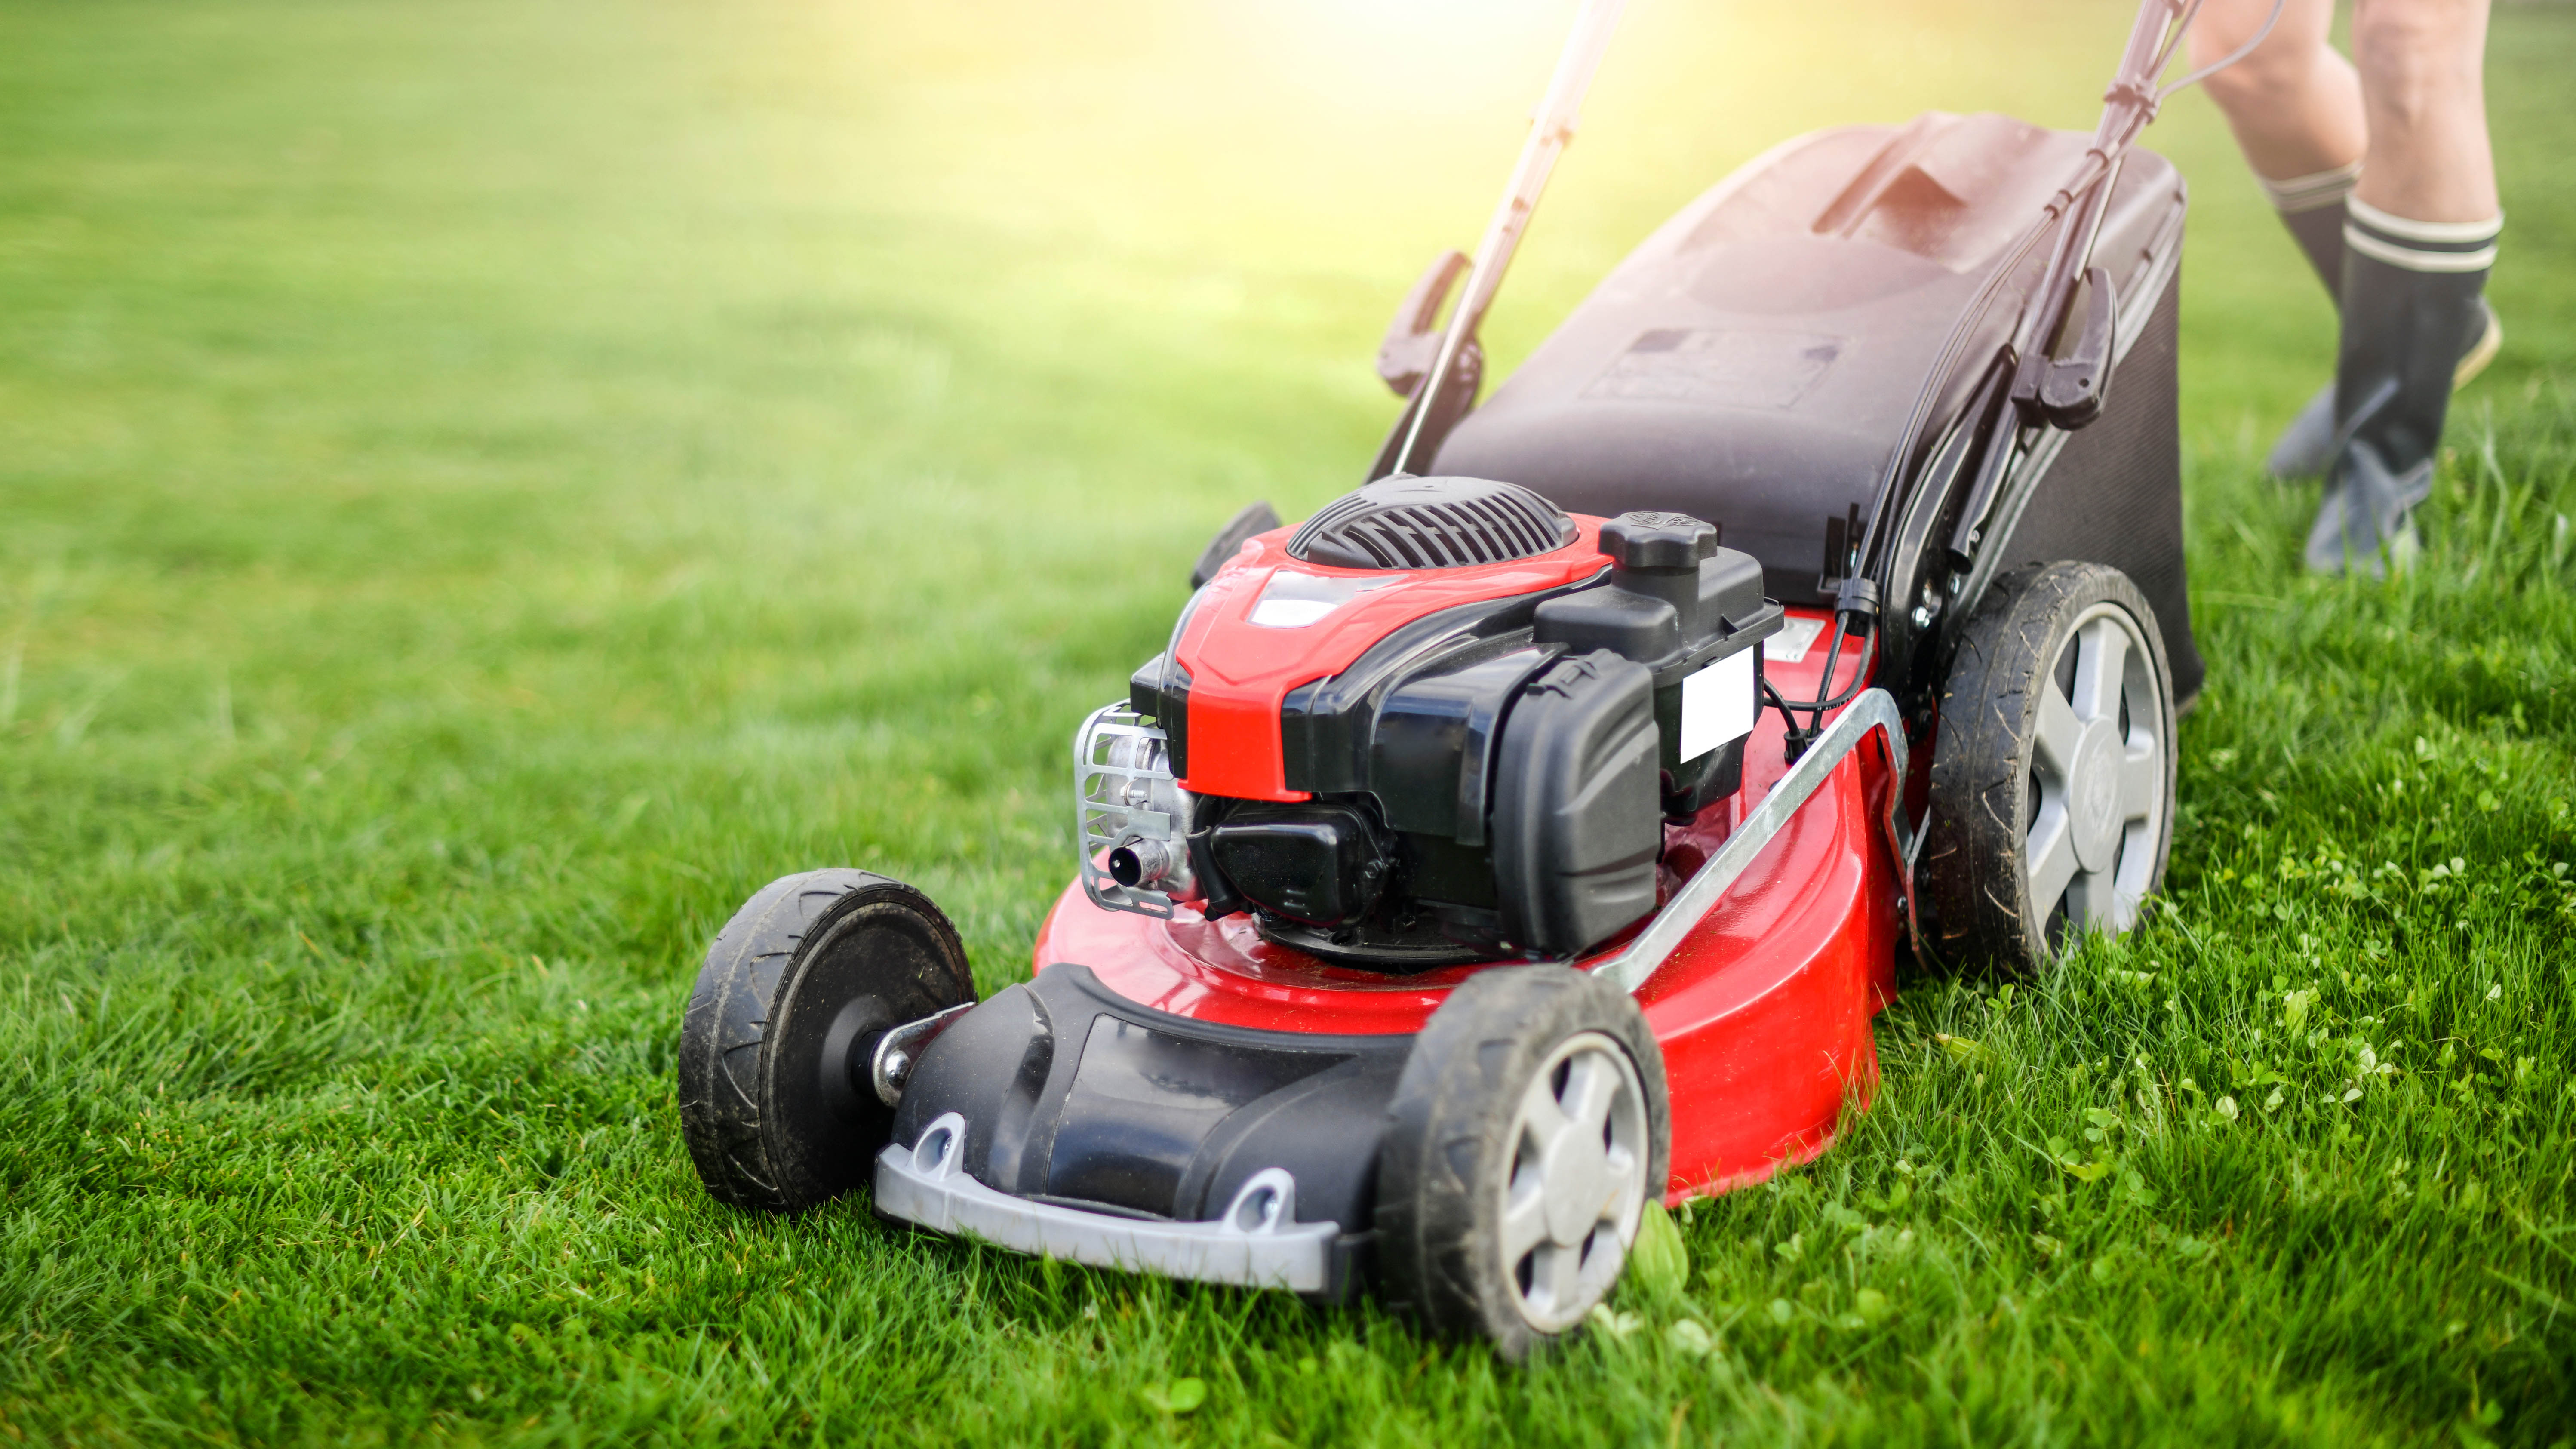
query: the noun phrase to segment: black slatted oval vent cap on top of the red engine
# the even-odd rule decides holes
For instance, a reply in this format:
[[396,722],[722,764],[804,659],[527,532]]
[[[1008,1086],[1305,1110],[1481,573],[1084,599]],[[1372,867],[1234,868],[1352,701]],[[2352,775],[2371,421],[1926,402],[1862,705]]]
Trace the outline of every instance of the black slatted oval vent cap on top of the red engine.
[[1288,554],[1347,570],[1499,565],[1574,541],[1574,518],[1484,477],[1381,477],[1347,492],[1288,539]]

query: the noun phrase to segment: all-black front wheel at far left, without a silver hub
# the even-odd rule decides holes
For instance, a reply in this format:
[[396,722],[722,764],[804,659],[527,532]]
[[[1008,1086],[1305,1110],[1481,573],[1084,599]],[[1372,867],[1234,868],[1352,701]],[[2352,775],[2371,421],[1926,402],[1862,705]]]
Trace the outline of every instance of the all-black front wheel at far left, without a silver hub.
[[956,926],[871,871],[806,871],[742,905],[680,1024],[680,1134],[719,1201],[801,1212],[871,1178],[894,1109],[868,1085],[889,1026],[974,1000]]

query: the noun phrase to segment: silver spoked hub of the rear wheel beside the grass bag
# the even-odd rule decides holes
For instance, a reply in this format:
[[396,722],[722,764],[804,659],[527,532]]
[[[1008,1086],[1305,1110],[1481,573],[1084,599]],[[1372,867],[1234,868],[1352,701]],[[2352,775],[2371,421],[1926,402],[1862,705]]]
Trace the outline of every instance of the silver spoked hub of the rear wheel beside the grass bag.
[[2112,603],[2087,608],[2069,647],[2074,683],[2050,670],[2040,686],[2030,908],[2063,902],[2069,928],[2117,936],[2138,923],[2164,838],[2164,694],[2138,621]]

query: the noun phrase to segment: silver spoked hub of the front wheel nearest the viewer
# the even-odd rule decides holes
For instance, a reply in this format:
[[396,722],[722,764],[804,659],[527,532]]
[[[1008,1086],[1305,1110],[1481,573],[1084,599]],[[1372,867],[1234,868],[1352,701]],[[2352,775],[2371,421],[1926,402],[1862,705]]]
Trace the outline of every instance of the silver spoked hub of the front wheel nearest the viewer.
[[1646,1212],[1646,1091],[1618,1042],[1556,1044],[1512,1111],[1502,1269],[1515,1307],[1564,1333],[1618,1281]]

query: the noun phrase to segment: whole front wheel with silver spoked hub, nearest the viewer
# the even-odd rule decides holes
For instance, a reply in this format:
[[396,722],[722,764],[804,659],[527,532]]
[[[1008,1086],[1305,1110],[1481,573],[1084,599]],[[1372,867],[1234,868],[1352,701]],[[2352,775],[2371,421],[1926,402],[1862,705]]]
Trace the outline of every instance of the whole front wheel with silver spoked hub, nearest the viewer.
[[1664,1057],[1628,993],[1494,967],[1432,1013],[1378,1160],[1388,1297],[1520,1359],[1610,1297],[1664,1191]]

